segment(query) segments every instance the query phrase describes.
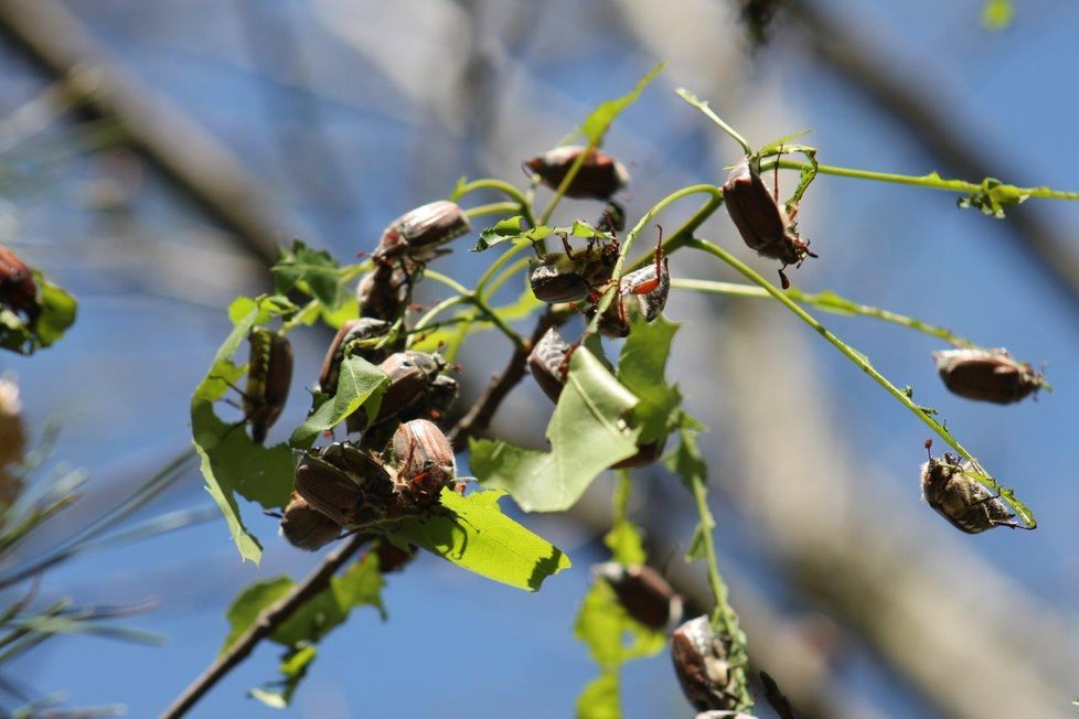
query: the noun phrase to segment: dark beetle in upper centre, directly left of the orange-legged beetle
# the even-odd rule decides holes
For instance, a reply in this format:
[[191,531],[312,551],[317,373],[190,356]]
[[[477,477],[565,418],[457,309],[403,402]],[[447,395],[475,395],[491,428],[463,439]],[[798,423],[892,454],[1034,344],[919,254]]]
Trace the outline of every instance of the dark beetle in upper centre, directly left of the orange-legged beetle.
[[588,299],[596,287],[610,281],[618,260],[618,240],[592,238],[574,250],[560,235],[563,253],[547,253],[528,262],[528,283],[536,299],[555,304]]

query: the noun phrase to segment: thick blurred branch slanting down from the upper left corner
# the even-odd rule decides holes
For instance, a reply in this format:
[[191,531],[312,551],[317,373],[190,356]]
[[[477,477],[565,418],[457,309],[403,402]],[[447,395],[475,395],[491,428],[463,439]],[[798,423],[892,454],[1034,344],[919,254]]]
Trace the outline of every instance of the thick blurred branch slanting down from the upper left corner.
[[118,122],[138,150],[260,257],[277,259],[284,223],[273,192],[179,106],[115,62],[62,3],[0,0],[0,32],[85,97],[89,111]]

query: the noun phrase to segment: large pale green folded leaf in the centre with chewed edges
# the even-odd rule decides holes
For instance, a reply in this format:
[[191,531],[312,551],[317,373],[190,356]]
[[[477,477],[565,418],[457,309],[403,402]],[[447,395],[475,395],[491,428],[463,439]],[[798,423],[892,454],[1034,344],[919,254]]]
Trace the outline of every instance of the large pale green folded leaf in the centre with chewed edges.
[[469,463],[487,487],[506,490],[525,512],[559,512],[600,472],[637,453],[639,429],[623,419],[638,404],[590,352],[575,352],[547,439],[551,452],[472,440]]

